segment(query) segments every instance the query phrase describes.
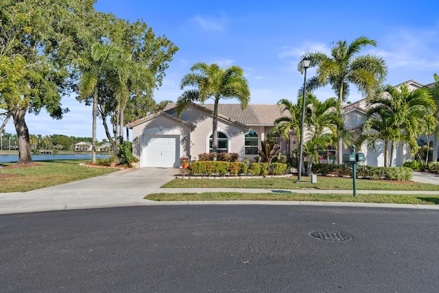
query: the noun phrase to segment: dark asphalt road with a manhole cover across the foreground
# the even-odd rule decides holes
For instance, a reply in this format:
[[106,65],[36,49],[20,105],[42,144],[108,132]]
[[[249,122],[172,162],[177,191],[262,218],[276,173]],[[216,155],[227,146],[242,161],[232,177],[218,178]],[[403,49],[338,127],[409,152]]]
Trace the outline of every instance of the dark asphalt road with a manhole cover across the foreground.
[[438,211],[282,205],[0,215],[0,291],[438,292],[438,225]]

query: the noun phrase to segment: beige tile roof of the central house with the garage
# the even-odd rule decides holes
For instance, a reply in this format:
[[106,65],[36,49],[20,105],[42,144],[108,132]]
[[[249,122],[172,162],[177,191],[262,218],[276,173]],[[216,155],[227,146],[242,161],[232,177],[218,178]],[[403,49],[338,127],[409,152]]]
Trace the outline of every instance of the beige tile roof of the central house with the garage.
[[[195,104],[213,111],[214,104]],[[169,103],[164,111],[174,110],[176,103]],[[283,107],[276,104],[248,104],[241,109],[241,104],[219,104],[218,114],[245,125],[274,125],[274,120],[283,117]]]

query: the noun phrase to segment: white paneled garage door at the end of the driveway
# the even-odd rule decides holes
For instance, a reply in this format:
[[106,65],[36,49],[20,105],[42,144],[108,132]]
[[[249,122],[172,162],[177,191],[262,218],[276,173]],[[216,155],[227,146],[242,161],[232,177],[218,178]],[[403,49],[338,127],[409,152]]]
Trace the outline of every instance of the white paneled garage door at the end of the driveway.
[[143,167],[178,167],[179,137],[174,135],[143,135]]

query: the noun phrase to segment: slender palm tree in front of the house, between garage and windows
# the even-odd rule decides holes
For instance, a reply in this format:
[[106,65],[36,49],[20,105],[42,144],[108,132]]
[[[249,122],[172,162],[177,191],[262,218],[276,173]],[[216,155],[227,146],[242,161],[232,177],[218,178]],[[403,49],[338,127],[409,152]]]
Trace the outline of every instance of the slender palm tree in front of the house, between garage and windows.
[[193,86],[195,89],[185,91],[177,100],[178,115],[182,113],[189,103],[198,101],[204,103],[206,99],[212,98],[213,123],[212,123],[212,149],[213,160],[216,160],[217,152],[217,125],[218,125],[218,104],[219,99],[237,98],[241,108],[246,108],[250,101],[250,90],[244,72],[240,67],[231,66],[228,69],[220,69],[217,64],[206,65],[204,62],[196,63],[191,67],[192,73],[183,76],[180,82],[180,89],[185,86]]

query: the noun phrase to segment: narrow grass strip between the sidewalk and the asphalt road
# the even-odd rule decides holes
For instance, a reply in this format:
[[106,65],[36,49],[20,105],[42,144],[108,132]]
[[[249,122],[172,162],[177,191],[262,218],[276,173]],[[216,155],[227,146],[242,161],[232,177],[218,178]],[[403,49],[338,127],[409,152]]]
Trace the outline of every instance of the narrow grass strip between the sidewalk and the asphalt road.
[[206,200],[283,200],[314,202],[370,202],[394,204],[439,204],[439,196],[425,194],[293,194],[289,192],[247,194],[238,192],[204,192],[202,194],[150,194],[147,200],[155,201],[206,201]]

